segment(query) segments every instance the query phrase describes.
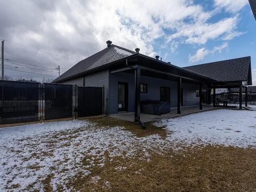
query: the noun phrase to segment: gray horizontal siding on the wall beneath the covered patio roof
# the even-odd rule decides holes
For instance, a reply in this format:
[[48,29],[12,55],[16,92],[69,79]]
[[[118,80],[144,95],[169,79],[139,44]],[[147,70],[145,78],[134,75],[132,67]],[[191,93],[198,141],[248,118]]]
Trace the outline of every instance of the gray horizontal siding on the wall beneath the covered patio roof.
[[[118,82],[128,83],[128,112],[134,111],[134,74],[115,73],[110,74],[110,96],[109,96],[109,114],[117,114],[118,108]],[[141,83],[147,84],[147,93],[140,94],[140,100],[160,100],[160,87],[170,88],[171,107],[177,106],[177,82],[153,77],[141,76]],[[182,84],[183,88],[183,106],[199,104],[199,97],[196,96],[196,90],[199,86],[194,84]]]

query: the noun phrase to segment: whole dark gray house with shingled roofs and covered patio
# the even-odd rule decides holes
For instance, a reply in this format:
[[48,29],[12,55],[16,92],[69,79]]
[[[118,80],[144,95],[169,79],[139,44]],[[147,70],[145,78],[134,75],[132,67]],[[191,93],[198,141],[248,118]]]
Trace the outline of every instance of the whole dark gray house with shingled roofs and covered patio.
[[180,68],[159,56],[143,55],[138,48],[128,50],[110,40],[106,44],[105,49],[81,60],[53,82],[104,86],[108,115],[135,112],[135,121],[140,121],[145,102],[154,105],[154,101],[164,101],[169,108],[177,108],[177,113],[181,113],[181,106],[199,105],[202,109],[203,102],[210,103],[211,89],[215,106],[216,89],[242,91],[242,87],[251,84],[250,57]]

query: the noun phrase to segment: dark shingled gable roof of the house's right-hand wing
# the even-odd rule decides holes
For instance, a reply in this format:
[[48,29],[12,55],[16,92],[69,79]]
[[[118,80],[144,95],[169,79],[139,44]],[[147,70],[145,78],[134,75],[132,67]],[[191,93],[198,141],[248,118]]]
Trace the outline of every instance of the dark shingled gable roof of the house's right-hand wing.
[[194,71],[223,82],[248,81],[248,84],[251,84],[250,63],[250,57],[241,57],[184,67],[184,69]]

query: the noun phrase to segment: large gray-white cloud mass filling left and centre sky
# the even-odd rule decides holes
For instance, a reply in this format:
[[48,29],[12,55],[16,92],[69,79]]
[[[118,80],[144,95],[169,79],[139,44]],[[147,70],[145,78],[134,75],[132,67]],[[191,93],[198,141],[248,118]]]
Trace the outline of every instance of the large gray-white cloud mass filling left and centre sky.
[[[200,45],[223,35],[229,35],[231,39],[242,34],[236,31],[239,22],[236,13],[219,22],[209,23],[207,20],[214,12],[207,12],[200,5],[185,0],[0,0],[0,4],[0,37],[6,39],[5,58],[48,68],[59,65],[63,71],[105,48],[105,41],[109,39],[129,49],[139,47],[142,53],[153,56],[158,39],[166,42],[162,48],[175,45],[176,49],[180,44]],[[185,22],[187,19],[189,24]],[[222,31],[215,29],[222,23],[225,24]],[[199,32],[199,27],[204,30]],[[166,29],[174,32],[166,34]],[[211,33],[207,29],[211,29]],[[6,62],[12,69],[57,76],[57,71],[46,73],[36,67],[16,64]],[[6,70],[5,74],[13,78],[37,80],[43,77],[10,70]]]

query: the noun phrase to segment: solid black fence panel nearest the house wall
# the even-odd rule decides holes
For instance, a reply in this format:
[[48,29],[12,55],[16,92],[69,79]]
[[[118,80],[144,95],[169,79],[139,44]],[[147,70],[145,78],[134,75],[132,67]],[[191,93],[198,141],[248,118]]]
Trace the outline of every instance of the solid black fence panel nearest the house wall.
[[103,88],[77,87],[77,117],[103,113]]

